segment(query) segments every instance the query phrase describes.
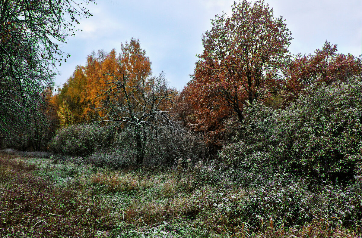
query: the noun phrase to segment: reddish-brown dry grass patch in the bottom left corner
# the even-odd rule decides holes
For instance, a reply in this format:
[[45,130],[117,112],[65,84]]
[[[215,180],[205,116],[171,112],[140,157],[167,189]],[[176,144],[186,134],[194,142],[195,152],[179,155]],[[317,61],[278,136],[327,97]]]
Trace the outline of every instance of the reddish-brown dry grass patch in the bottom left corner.
[[12,174],[0,187],[1,237],[94,237],[113,225],[100,196],[85,190],[83,182],[54,187],[49,179],[21,170],[29,170],[26,163],[7,162]]

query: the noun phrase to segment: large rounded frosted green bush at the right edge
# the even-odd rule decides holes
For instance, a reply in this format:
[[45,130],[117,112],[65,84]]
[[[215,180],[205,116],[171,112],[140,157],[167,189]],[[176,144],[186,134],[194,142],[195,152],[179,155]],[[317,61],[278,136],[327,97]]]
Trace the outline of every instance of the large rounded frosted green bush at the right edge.
[[362,159],[361,79],[308,88],[281,113],[277,136],[276,154],[286,169],[321,180],[352,179]]

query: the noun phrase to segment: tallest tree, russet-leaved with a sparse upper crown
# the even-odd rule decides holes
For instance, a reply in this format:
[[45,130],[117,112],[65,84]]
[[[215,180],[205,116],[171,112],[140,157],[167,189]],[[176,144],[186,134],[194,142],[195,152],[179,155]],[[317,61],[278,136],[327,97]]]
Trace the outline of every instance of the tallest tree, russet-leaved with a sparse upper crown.
[[289,60],[290,31],[264,1],[232,5],[232,15],[216,15],[202,37],[203,53],[188,83],[190,103],[203,130],[222,120],[244,119],[243,108],[275,93],[278,73]]

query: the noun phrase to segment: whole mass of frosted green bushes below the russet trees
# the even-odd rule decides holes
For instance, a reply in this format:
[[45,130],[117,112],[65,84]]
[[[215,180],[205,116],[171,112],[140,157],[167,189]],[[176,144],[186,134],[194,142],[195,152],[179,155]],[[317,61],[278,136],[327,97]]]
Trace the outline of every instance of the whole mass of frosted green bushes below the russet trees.
[[282,169],[311,184],[346,183],[357,173],[361,151],[361,79],[351,78],[311,86],[285,110],[249,105],[220,157],[250,181]]

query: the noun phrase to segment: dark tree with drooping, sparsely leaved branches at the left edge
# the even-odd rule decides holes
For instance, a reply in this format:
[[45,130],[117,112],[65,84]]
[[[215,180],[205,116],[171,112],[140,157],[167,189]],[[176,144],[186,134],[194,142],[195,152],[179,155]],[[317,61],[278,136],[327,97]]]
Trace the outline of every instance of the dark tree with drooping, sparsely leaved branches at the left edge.
[[54,67],[70,57],[60,43],[74,35],[81,17],[91,14],[72,0],[3,0],[0,2],[0,133],[10,139],[38,121],[41,92],[54,85]]

